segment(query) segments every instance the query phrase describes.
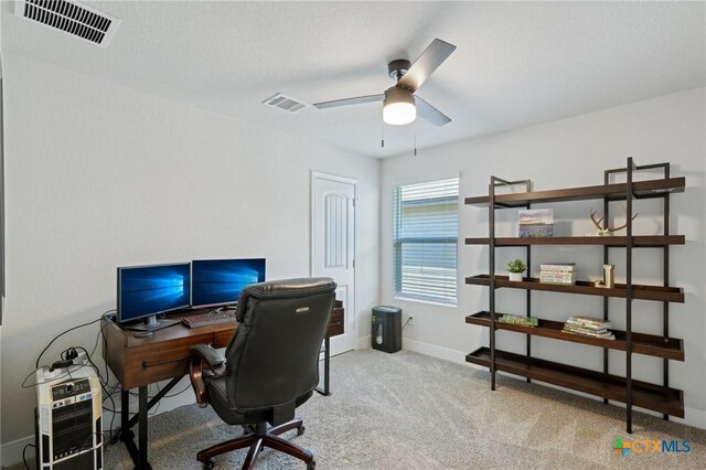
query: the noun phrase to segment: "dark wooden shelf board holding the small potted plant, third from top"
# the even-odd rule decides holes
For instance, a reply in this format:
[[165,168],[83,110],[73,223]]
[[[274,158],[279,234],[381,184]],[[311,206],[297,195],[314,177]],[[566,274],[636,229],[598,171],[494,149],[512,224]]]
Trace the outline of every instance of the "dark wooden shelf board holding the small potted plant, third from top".
[[[478,275],[466,278],[466,284],[477,286],[490,286],[489,275]],[[577,280],[575,285],[559,285],[539,282],[537,278],[523,278],[522,281],[511,281],[507,276],[495,276],[495,287],[509,287],[524,290],[547,290],[552,292],[582,293],[586,296],[619,297],[625,298],[628,291],[624,284],[616,284],[616,287],[606,289],[595,287],[593,282]],[[684,303],[684,289],[681,287],[642,286],[632,285],[632,298],[641,300],[660,300]]]

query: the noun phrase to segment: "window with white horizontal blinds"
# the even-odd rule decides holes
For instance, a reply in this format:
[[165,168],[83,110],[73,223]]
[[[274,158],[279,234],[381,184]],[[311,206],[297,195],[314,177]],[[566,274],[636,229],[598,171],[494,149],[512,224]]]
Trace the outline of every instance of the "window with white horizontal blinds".
[[398,186],[393,206],[395,297],[457,305],[459,180]]

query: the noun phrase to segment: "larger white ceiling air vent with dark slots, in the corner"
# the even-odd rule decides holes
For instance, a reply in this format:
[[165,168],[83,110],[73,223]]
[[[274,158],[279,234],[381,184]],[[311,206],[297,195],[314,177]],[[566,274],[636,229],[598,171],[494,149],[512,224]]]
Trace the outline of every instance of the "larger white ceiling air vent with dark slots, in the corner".
[[18,17],[83,38],[94,44],[108,45],[120,20],[68,0],[17,0]]

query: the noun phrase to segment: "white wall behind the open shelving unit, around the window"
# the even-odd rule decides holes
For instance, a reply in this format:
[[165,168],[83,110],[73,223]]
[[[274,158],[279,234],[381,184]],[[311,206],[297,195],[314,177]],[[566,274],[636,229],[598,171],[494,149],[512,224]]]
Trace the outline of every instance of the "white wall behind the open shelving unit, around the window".
[[[459,307],[439,307],[395,300],[392,282],[392,191],[397,184],[428,181],[461,173],[461,196],[486,194],[489,179],[531,179],[535,190],[601,184],[603,170],[624,167],[632,156],[638,164],[672,162],[672,173],[686,177],[685,193],[672,196],[672,233],[686,235],[685,246],[671,248],[671,284],[685,291],[685,303],[671,306],[671,335],[684,339],[685,362],[671,362],[671,385],[684,389],[686,421],[706,428],[706,277],[704,180],[705,180],[705,89],[698,88],[598,113],[533,126],[511,132],[400,156],[383,162],[381,188],[381,300],[415,314],[415,325],[405,329],[405,346],[452,361],[488,344],[488,330],[466,324],[467,314],[488,309],[488,288],[467,286],[466,276],[488,271],[488,247],[466,246],[466,237],[488,236],[488,211],[461,205],[459,225]],[[653,175],[652,178],[659,178]],[[554,209],[558,235],[584,235],[593,229],[588,217],[591,205],[602,211],[602,202],[588,201],[547,205]],[[539,207],[539,206],[537,206]],[[634,227],[639,234],[659,234],[661,203],[640,201]],[[613,212],[620,211],[616,205]],[[499,211],[499,236],[516,231],[516,211]],[[502,274],[507,259],[524,249],[502,248],[496,258]],[[624,279],[624,250],[611,252],[618,280]],[[637,282],[661,282],[661,250],[637,253]],[[575,260],[579,278],[599,278],[600,247],[535,247],[533,264]],[[534,273],[533,273],[534,274]],[[524,293],[498,291],[498,309],[524,313]],[[599,297],[534,292],[533,312],[564,321],[570,314],[600,316]],[[610,301],[611,320],[624,324],[624,301]],[[406,317],[405,317],[406,318]],[[634,330],[661,334],[661,305],[634,301]],[[499,348],[524,352],[524,337],[501,332]],[[533,339],[537,356],[589,368],[601,368],[599,348],[560,341]],[[611,371],[624,371],[624,354],[611,352]],[[633,355],[635,378],[661,383],[662,361]]]

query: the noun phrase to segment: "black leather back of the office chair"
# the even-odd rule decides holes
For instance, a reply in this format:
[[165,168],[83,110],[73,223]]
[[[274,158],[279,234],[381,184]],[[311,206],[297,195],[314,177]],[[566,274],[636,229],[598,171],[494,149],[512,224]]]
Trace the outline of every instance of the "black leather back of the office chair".
[[240,325],[225,352],[231,408],[272,409],[272,425],[293,418],[297,399],[319,382],[319,352],[335,288],[329,278],[300,278],[243,289],[236,311]]

